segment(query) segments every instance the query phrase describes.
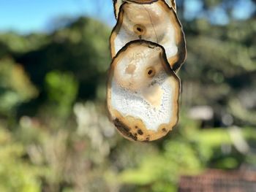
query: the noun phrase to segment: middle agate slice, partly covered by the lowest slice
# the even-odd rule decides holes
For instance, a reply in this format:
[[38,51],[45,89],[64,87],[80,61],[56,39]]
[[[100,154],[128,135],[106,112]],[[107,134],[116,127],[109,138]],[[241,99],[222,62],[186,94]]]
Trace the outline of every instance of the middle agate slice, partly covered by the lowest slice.
[[124,2],[110,37],[112,58],[124,45],[136,39],[156,42],[165,48],[167,61],[177,71],[186,58],[186,43],[181,23],[165,1]]

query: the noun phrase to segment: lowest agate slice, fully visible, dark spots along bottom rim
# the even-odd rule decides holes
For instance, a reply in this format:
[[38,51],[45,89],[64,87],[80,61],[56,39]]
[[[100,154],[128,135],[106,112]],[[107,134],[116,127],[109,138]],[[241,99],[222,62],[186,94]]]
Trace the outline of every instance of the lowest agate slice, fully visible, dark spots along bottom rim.
[[153,141],[178,121],[180,80],[161,45],[136,40],[113,58],[108,77],[110,120],[127,139]]

